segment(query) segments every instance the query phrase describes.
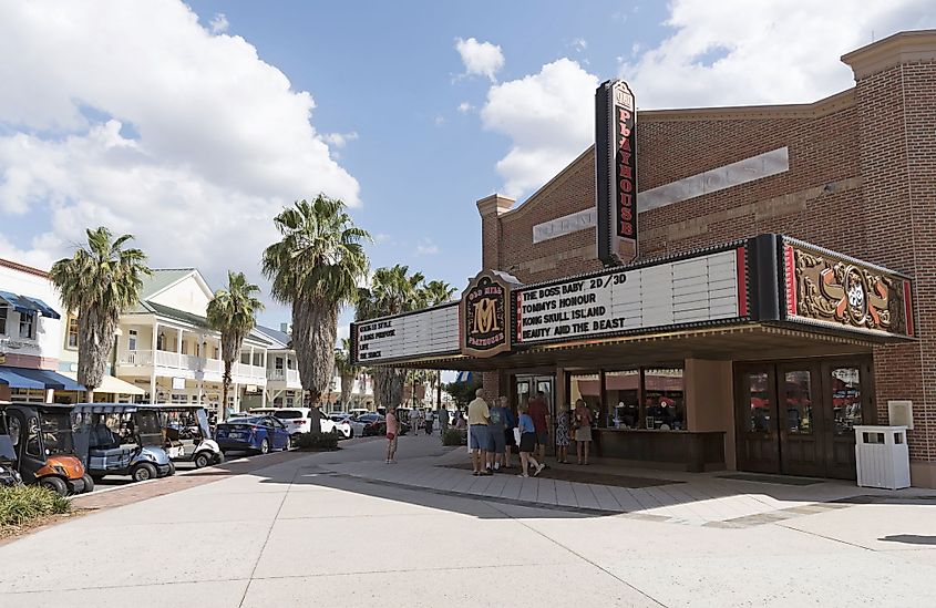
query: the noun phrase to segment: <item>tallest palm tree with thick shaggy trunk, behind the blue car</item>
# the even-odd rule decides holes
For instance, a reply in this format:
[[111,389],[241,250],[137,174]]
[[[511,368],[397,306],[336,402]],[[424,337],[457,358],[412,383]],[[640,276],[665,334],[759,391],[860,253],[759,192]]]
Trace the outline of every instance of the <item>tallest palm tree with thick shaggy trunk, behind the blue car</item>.
[[274,221],[282,239],[264,251],[264,274],[272,297],[292,306],[299,379],[317,403],[331,385],[338,313],[354,301],[368,274],[361,241],[370,235],[354,226],[344,203],[325,195],[297,202]]

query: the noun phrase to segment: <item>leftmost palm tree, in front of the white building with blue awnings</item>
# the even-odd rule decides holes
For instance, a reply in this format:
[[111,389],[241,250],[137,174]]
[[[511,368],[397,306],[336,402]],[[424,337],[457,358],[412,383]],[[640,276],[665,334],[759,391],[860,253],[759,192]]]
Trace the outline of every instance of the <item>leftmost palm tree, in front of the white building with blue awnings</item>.
[[143,277],[151,271],[142,250],[123,248],[133,236],[112,240],[103,226],[85,233],[88,247],[56,261],[49,275],[62,306],[78,315],[78,381],[88,390],[88,401],[94,401],[121,315],[140,300]]

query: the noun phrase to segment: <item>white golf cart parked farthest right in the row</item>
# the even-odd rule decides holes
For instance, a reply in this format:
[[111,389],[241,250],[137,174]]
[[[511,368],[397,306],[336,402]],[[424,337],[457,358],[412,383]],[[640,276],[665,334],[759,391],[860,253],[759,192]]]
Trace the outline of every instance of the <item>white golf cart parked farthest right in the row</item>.
[[195,463],[195,468],[224,462],[218,443],[212,439],[205,408],[167,404],[158,408],[169,458],[174,462]]

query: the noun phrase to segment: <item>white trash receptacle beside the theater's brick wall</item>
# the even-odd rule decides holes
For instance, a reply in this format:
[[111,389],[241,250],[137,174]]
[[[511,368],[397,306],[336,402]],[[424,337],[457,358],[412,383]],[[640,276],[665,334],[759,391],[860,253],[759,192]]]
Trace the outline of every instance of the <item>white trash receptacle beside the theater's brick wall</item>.
[[906,426],[855,426],[858,485],[899,490],[911,485]]

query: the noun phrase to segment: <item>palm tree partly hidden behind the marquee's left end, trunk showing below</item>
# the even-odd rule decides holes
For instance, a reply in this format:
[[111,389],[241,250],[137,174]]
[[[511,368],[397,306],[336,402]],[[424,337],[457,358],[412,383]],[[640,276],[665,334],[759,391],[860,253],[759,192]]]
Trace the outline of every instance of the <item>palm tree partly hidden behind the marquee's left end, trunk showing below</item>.
[[[410,275],[409,266],[378,268],[370,287],[358,290],[358,321],[425,308],[425,293],[420,288],[423,280],[421,272]],[[392,409],[402,404],[405,377],[405,370],[374,368],[373,396],[378,405]]]

